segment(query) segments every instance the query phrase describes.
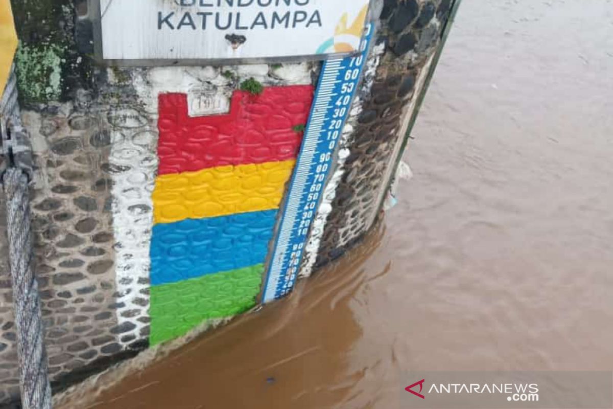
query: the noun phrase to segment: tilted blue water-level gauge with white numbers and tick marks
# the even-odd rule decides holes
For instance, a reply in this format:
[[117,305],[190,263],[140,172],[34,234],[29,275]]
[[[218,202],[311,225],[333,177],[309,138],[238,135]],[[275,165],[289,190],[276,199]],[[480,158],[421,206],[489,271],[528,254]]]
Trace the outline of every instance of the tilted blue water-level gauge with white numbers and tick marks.
[[280,299],[294,288],[310,227],[333,167],[334,152],[362,77],[373,31],[373,25],[368,25],[359,54],[329,59],[322,67],[268,264],[263,303]]

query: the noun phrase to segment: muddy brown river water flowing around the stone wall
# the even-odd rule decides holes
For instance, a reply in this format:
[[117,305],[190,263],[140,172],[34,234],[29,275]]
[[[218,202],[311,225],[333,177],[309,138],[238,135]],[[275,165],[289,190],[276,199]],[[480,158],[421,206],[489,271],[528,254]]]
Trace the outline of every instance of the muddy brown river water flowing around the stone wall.
[[465,0],[400,203],[88,405],[397,408],[403,370],[613,369],[613,2]]

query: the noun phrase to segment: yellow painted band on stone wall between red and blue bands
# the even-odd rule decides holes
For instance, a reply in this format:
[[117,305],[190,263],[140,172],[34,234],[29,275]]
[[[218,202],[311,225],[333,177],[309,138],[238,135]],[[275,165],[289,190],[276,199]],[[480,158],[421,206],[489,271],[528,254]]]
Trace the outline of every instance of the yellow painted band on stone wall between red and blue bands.
[[153,191],[154,223],[279,208],[294,164],[267,162],[160,175]]

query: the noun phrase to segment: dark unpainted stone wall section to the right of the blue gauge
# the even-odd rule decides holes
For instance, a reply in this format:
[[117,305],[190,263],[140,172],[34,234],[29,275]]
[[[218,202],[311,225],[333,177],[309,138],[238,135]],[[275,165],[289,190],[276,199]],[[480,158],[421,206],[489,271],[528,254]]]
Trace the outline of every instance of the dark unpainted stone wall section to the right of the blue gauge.
[[340,257],[370,229],[415,108],[428,61],[449,17],[449,0],[385,0],[378,44],[385,44],[370,94],[349,137],[349,156],[322,235],[316,266]]

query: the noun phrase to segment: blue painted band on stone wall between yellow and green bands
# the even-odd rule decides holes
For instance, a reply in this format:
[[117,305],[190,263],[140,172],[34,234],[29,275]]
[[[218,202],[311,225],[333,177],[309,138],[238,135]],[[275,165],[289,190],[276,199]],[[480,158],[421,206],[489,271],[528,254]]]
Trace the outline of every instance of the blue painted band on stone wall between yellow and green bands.
[[151,237],[151,285],[261,264],[278,210],[156,224]]

